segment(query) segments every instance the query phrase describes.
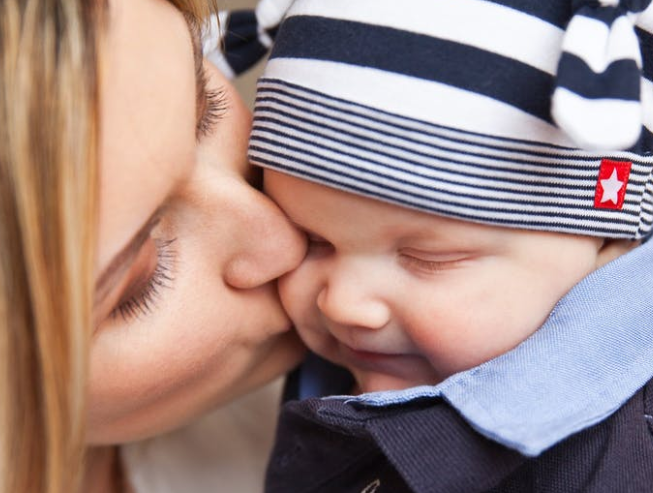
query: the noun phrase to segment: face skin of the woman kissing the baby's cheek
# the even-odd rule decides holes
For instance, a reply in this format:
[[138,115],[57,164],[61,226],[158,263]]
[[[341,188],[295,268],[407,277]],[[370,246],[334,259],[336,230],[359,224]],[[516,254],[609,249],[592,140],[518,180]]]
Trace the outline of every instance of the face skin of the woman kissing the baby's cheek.
[[[209,89],[224,93],[227,109],[197,138],[191,40],[183,16],[162,0],[111,2],[98,277],[161,212],[96,305],[91,445],[177,427],[281,375],[303,353],[275,279],[301,261],[304,238],[248,183],[250,114],[208,62]],[[157,269],[166,278],[147,306],[121,313]]]

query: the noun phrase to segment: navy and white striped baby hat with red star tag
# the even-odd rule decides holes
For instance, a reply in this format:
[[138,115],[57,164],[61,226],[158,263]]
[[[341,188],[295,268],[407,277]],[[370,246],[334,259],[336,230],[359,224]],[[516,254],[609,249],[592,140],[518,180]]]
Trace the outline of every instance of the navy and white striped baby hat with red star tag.
[[469,221],[646,237],[650,3],[296,0],[250,159]]

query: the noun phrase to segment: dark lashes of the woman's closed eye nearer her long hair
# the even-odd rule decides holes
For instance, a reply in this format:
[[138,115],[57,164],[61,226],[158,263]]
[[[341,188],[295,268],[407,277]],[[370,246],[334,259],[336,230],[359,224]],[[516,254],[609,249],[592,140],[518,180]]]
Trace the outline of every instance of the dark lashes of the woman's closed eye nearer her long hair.
[[157,264],[154,272],[138,293],[121,301],[111,311],[111,318],[120,316],[127,322],[132,318],[147,315],[154,308],[161,289],[172,287],[174,281],[172,267],[176,258],[176,252],[173,249],[175,241],[176,238],[155,240]]

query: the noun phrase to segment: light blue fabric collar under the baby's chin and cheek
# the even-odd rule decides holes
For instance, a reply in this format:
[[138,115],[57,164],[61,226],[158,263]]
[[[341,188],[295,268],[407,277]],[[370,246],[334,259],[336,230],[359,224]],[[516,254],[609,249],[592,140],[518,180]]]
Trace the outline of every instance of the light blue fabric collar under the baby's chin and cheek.
[[346,398],[443,397],[477,431],[535,456],[615,412],[653,377],[653,241],[591,273],[514,350],[437,386]]

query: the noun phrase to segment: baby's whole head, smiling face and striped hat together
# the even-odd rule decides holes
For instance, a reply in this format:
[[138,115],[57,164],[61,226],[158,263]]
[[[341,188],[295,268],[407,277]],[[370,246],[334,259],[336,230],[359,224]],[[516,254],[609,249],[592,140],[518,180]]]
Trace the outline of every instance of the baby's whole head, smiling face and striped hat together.
[[650,234],[653,8],[501,3],[299,0],[260,81],[250,157],[309,237],[281,297],[363,391],[512,349]]

